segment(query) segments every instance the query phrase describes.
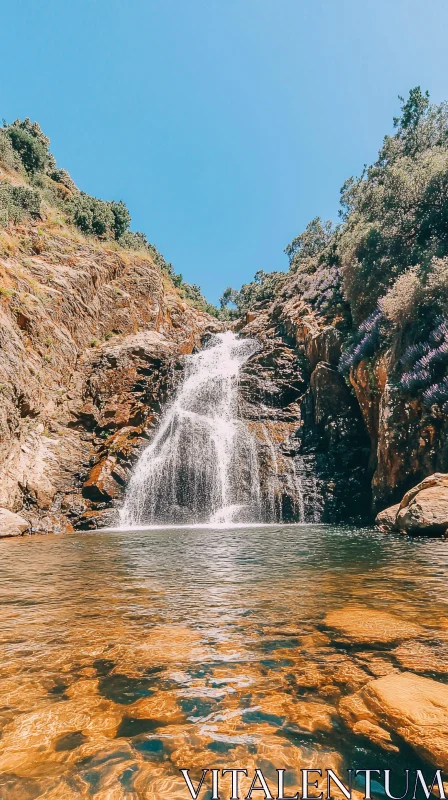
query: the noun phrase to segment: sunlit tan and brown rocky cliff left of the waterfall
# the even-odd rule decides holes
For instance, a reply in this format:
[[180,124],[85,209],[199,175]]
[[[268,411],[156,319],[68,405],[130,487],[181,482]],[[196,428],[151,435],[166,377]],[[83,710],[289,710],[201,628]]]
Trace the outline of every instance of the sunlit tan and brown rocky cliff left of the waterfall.
[[221,325],[149,254],[47,219],[3,231],[0,290],[0,505],[32,531],[99,527],[183,356]]

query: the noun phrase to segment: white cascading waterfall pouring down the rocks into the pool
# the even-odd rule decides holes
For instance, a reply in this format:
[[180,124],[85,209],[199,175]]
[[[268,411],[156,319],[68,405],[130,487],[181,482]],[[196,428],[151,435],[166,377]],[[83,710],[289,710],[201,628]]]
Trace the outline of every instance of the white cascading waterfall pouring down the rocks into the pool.
[[121,525],[259,521],[256,442],[237,419],[240,367],[257,349],[227,331],[187,357],[182,383],[131,476]]

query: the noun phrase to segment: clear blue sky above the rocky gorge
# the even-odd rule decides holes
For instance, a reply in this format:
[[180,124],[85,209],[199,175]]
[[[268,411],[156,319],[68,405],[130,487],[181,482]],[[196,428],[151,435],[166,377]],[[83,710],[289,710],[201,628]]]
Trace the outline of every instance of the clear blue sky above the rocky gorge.
[[38,120],[212,302],[337,218],[398,94],[448,99],[446,0],[3,0],[1,19],[0,117]]

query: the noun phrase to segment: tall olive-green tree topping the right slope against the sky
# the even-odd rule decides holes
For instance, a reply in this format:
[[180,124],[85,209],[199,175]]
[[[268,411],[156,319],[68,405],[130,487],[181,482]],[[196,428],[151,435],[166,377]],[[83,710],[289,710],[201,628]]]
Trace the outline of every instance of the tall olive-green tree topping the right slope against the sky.
[[342,189],[338,256],[357,322],[402,273],[448,253],[448,107],[417,87],[395,126],[376,163]]

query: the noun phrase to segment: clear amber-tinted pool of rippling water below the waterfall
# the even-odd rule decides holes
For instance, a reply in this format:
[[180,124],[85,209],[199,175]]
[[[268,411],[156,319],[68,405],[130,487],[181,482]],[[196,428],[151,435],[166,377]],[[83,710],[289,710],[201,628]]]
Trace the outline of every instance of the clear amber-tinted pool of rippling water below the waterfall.
[[185,800],[180,767],[284,767],[297,788],[300,767],[384,766],[337,708],[398,668],[393,648],[336,643],[323,618],[355,602],[447,636],[441,541],[288,526],[1,550],[5,800]]

